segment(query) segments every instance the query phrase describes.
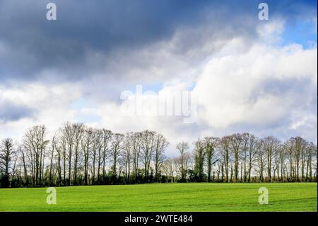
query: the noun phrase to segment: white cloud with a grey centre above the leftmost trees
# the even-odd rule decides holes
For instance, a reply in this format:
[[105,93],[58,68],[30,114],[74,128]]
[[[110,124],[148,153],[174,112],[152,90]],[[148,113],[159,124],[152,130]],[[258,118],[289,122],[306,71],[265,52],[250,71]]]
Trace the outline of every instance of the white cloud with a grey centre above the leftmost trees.
[[49,135],[66,120],[74,121],[77,113],[71,103],[80,98],[75,84],[0,85],[0,137],[20,140],[33,125],[47,125]]

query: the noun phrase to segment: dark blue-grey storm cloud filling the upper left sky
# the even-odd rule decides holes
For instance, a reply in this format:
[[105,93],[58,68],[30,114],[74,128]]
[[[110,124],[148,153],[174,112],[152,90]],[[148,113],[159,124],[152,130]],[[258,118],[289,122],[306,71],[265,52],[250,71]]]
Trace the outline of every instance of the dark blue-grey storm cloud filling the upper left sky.
[[[107,53],[169,38],[180,23],[196,23],[195,1],[52,1],[57,21],[47,21],[47,1],[1,1],[0,77],[33,79],[41,69],[87,66],[88,51]],[[1,52],[0,52],[1,53]],[[107,60],[107,59],[106,59]],[[72,76],[72,75],[69,75]]]

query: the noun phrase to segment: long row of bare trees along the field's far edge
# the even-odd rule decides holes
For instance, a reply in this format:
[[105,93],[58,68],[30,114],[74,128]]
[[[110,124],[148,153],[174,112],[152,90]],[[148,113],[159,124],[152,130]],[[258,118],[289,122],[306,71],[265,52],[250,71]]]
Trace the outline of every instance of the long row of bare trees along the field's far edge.
[[0,144],[0,186],[78,186],[153,182],[317,182],[317,145],[302,137],[281,142],[249,133],[169,142],[158,132],[114,133],[64,123],[51,139],[45,125],[20,142]]

